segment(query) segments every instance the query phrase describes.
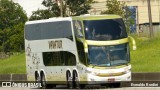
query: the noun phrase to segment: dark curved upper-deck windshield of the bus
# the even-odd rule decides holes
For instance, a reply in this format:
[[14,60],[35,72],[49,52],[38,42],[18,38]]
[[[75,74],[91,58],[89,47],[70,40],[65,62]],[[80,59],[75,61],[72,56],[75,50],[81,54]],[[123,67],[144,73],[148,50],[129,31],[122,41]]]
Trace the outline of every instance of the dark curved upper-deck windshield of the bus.
[[127,37],[121,18],[104,20],[84,20],[85,38],[87,40],[117,40]]

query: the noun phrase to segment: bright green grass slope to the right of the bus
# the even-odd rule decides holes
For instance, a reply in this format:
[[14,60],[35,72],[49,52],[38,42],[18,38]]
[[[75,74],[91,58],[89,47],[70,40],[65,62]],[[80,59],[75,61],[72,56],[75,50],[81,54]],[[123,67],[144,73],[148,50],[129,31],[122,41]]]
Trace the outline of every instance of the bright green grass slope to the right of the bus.
[[133,72],[160,72],[160,37],[134,37],[137,50],[131,50]]

